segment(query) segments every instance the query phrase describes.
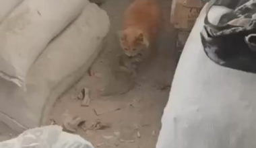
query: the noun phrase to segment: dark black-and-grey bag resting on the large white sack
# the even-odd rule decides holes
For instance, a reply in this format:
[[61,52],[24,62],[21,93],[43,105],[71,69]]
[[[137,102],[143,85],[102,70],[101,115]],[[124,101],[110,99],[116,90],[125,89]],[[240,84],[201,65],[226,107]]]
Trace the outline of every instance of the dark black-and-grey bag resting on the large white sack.
[[222,15],[217,25],[207,17],[216,1],[208,3],[201,42],[207,57],[218,65],[256,73],[256,1],[232,1],[224,5],[232,11]]

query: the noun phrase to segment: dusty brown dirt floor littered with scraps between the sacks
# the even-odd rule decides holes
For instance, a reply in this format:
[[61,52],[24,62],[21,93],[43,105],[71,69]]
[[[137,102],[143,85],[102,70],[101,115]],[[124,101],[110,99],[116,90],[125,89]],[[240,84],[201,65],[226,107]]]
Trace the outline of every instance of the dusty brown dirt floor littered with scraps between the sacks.
[[[171,1],[159,1],[164,17],[169,20]],[[115,83],[111,83],[111,69],[121,53],[116,32],[129,3],[130,0],[108,0],[101,5],[111,22],[104,49],[92,65],[90,75],[86,74],[59,98],[51,114],[51,119],[57,124],[65,122],[65,114],[86,120],[84,127],[87,129],[78,128],[76,133],[90,141],[94,147],[154,148],[176,68],[176,36],[170,28],[170,32],[162,32],[156,59],[150,65],[139,67],[135,87],[126,94],[106,97],[98,95],[97,90],[106,87],[106,83],[110,83],[108,87],[116,89]],[[84,87],[90,89],[91,101],[88,107],[81,106],[82,100],[75,98]],[[96,121],[103,126],[106,124],[106,127],[90,129]]]

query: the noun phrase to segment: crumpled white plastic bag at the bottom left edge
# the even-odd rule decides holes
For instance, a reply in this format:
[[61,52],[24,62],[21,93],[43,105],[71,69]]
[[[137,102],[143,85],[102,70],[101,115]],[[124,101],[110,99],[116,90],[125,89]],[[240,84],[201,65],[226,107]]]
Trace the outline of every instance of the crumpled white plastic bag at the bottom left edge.
[[24,131],[15,139],[3,141],[1,148],[94,148],[78,135],[65,133],[61,126],[51,125]]

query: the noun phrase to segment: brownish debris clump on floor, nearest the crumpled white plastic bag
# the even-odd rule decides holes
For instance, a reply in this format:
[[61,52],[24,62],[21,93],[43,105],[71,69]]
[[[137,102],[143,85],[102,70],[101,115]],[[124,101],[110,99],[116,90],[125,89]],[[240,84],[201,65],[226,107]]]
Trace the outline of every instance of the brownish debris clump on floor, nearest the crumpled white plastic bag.
[[75,133],[77,131],[77,128],[82,128],[84,126],[86,120],[83,120],[82,118],[75,116],[71,117],[69,114],[65,113],[65,120],[63,122],[63,131],[69,132],[69,133]]

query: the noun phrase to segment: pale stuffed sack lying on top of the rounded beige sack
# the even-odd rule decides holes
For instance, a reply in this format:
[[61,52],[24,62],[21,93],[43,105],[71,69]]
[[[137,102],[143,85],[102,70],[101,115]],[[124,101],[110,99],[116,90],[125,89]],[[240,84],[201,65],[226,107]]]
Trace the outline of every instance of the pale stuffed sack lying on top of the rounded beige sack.
[[86,0],[25,0],[0,24],[0,76],[18,86],[46,45],[70,24]]

